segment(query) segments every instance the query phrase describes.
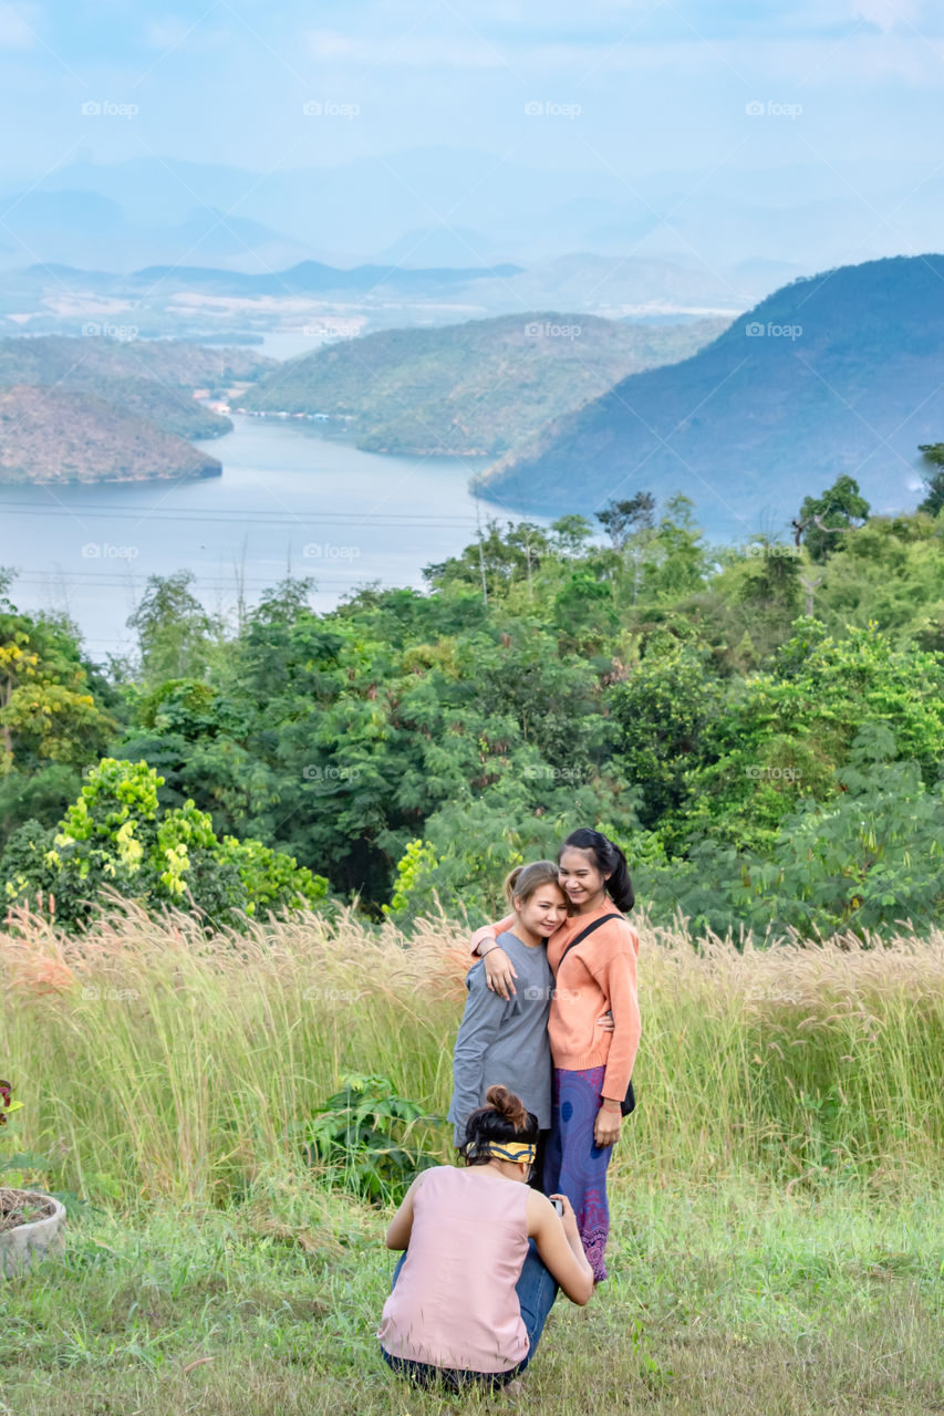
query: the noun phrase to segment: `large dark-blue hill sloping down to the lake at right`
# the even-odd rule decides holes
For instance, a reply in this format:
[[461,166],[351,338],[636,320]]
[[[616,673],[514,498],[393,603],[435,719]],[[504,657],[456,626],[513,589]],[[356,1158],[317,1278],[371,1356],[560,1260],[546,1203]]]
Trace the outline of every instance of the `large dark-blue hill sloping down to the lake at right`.
[[944,423],[944,256],[795,280],[713,344],[634,374],[481,479],[506,506],[574,511],[646,490],[697,500],[713,534],[788,518],[848,473],[876,510],[914,504],[914,449]]

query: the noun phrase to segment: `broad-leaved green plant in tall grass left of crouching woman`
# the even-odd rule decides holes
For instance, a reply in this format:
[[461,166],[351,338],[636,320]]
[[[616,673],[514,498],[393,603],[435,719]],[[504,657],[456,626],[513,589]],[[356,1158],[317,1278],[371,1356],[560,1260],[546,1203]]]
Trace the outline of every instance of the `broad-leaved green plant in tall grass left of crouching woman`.
[[438,1124],[415,1102],[397,1096],[387,1076],[346,1076],[310,1120],[303,1121],[305,1155],[327,1168],[333,1185],[364,1199],[398,1204],[415,1177],[437,1165],[410,1143],[420,1123]]

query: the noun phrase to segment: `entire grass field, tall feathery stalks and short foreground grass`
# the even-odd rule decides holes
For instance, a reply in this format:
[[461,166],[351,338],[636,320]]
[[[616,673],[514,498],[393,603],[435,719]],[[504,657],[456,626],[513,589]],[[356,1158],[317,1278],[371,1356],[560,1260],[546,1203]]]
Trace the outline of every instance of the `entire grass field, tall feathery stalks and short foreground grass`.
[[[558,1301],[517,1403],[944,1412],[944,937],[641,935],[611,1280]],[[346,1072],[445,1112],[458,926],[207,940],[116,909],[78,942],[20,916],[0,954],[0,1072],[26,1103],[3,1146],[47,1155],[21,1178],[69,1211],[65,1257],[0,1287],[0,1412],[456,1409],[378,1359],[388,1209],[306,1168],[293,1127]],[[442,1158],[446,1137],[420,1136]]]

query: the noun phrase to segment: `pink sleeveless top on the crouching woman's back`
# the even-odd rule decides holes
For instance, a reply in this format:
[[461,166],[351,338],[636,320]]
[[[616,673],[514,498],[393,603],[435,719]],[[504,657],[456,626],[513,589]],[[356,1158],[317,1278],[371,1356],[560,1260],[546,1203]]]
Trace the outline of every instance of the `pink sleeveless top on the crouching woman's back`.
[[391,1357],[507,1372],[527,1357],[515,1286],[527,1253],[527,1185],[471,1167],[428,1170],[377,1337]]

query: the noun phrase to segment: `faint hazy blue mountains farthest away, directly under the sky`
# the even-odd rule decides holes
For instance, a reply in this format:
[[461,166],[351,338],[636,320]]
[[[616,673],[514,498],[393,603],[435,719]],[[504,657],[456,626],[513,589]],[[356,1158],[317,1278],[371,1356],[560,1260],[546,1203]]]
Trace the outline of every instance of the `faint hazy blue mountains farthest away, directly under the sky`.
[[[746,119],[746,136],[757,122]],[[271,171],[169,154],[71,161],[3,188],[0,258],[265,273],[305,259],[533,266],[590,251],[687,266],[727,282],[733,306],[744,307],[791,266],[808,273],[920,251],[938,229],[941,177],[931,157],[826,164],[811,153],[808,161],[724,161],[706,173],[653,171],[632,144],[626,152],[625,171],[587,164],[554,173],[445,144]],[[894,221],[863,229],[866,208]],[[761,255],[781,270],[767,289],[748,287],[736,268]],[[561,304],[573,302],[539,302]]]

